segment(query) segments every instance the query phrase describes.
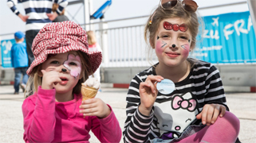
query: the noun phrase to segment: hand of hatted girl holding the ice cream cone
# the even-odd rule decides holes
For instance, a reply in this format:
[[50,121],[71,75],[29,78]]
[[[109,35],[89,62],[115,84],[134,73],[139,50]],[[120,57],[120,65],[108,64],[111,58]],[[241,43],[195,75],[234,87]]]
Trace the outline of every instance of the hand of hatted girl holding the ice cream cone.
[[80,113],[84,116],[96,116],[98,118],[106,118],[111,113],[110,108],[101,99],[87,99],[82,101],[79,106]]

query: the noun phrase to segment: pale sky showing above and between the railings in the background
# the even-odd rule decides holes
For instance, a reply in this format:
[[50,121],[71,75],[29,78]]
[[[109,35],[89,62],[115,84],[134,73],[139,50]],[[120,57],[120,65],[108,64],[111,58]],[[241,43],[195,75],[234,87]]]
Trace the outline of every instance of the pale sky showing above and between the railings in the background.
[[[7,0],[0,0],[0,35],[5,33],[15,33],[18,30],[25,31],[25,22],[23,22],[19,17],[12,13],[8,6],[6,6]],[[69,0],[68,0],[69,1]],[[96,10],[99,8],[106,0],[93,0],[93,9]],[[215,6],[222,5],[227,3],[234,2],[246,2],[246,0],[195,0],[198,3],[199,7],[206,6]],[[152,10],[156,8],[159,0],[112,0],[112,6],[104,14],[105,21],[108,20],[116,20],[120,18],[126,17],[139,17],[145,16],[152,13]],[[23,10],[22,4],[18,4],[18,10],[22,14],[25,14]],[[68,6],[66,14],[70,19],[70,15],[76,14],[75,20],[79,24],[84,23],[84,10],[81,7],[81,4]],[[207,15],[217,15],[217,14],[226,14],[231,12],[241,12],[247,11],[248,6],[246,4],[238,5],[238,6],[225,6],[219,8],[213,8],[209,10],[199,10],[199,14],[201,16]],[[97,20],[96,20],[97,21]],[[136,21],[124,21],[126,25],[132,25],[134,22],[139,22],[140,24],[144,24],[146,19],[136,20]],[[123,23],[123,24],[124,24]],[[119,25],[118,23],[116,25]],[[114,27],[116,25],[108,25],[110,27]],[[121,25],[121,24],[120,24]],[[9,38],[10,36],[2,37],[2,39]],[[12,38],[12,36],[11,36]]]

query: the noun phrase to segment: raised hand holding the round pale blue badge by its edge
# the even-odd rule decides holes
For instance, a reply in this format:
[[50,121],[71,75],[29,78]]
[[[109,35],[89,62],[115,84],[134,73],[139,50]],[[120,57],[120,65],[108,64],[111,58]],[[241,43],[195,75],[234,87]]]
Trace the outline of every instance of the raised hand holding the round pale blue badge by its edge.
[[150,114],[158,93],[156,89],[156,82],[160,82],[161,80],[163,80],[163,77],[160,75],[148,75],[145,82],[140,83],[139,110],[141,114]]

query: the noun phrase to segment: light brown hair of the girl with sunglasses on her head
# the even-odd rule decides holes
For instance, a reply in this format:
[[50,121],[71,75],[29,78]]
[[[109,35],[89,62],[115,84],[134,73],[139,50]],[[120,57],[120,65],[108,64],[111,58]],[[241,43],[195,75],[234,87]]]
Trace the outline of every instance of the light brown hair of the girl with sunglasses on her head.
[[[187,25],[188,29],[191,32],[191,49],[195,48],[196,36],[199,32],[199,21],[195,13],[189,13],[183,10],[183,7],[180,2],[176,6],[164,9],[161,6],[158,6],[155,12],[148,18],[147,24],[144,28],[144,40],[151,45],[155,44],[156,32],[160,27],[160,22],[167,18],[182,18],[184,23]],[[152,24],[149,22],[152,21]]]

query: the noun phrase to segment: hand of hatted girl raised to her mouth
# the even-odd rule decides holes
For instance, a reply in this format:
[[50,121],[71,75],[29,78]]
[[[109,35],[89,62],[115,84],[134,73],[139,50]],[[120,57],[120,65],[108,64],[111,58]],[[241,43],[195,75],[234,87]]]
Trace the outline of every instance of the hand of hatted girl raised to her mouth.
[[53,89],[53,84],[57,84],[61,82],[59,72],[56,72],[56,71],[46,72],[45,70],[41,70],[41,73],[43,74],[41,89],[51,90]]

